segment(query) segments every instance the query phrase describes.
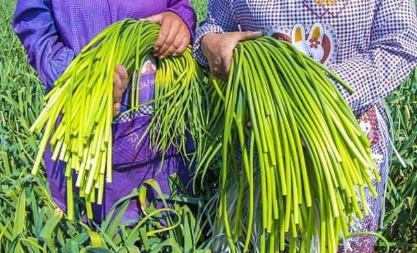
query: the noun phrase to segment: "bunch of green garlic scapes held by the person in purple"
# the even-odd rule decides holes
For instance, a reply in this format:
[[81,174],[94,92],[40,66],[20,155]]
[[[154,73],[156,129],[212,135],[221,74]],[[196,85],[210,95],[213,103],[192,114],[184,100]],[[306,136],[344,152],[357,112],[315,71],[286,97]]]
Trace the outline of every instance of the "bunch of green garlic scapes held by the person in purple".
[[[49,143],[52,160],[67,162],[67,184],[72,184],[75,171],[75,186],[86,200],[89,219],[93,218],[91,204],[103,204],[105,182],[112,182],[112,122],[120,114],[128,77],[141,70],[158,34],[160,27],[147,20],[125,19],[110,25],[82,49],[55,82],[44,98],[45,108],[30,128],[31,132],[43,130],[32,175],[40,169]],[[150,134],[154,153],[165,154],[175,146],[178,153],[185,154],[187,126],[191,126],[193,140],[202,138],[199,134],[205,132],[201,102],[204,72],[192,58],[190,47],[181,56],[158,60],[158,66],[155,99],[147,102],[153,104],[152,119],[139,143]],[[132,97],[139,97],[139,84],[139,79],[132,80]],[[145,105],[132,99],[132,108],[126,113]],[[56,126],[60,112],[62,121]],[[70,220],[74,219],[73,197],[69,187]]]

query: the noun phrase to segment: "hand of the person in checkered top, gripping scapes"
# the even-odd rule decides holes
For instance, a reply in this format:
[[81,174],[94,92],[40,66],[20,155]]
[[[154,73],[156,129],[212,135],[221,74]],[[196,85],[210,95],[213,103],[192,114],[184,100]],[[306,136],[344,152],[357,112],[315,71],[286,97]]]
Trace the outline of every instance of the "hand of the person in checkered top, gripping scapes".
[[245,40],[253,40],[263,36],[263,32],[227,32],[224,34],[208,33],[201,40],[203,55],[214,77],[228,80],[233,50],[237,44]]

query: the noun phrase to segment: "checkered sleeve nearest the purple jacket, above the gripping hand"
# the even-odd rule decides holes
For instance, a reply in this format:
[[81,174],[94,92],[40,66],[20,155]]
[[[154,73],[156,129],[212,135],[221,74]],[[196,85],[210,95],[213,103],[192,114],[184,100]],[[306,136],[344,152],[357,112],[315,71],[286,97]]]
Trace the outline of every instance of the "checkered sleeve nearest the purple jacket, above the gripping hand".
[[200,49],[202,37],[209,32],[221,34],[234,31],[237,31],[237,22],[233,12],[233,0],[209,0],[206,19],[195,32],[194,57],[202,66],[208,67],[208,62]]

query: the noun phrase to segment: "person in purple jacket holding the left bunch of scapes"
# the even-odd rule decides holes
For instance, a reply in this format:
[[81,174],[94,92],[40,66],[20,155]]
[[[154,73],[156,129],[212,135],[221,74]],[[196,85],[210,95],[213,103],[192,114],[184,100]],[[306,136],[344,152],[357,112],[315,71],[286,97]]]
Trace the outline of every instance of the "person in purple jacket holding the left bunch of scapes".
[[[160,34],[141,73],[141,103],[153,99],[155,57],[178,56],[189,45],[195,30],[196,16],[188,0],[18,0],[13,19],[17,36],[27,50],[27,60],[38,71],[40,80],[49,93],[60,75],[97,34],[123,19],[150,19],[161,25]],[[136,149],[136,143],[150,121],[152,107],[117,118],[128,109],[130,91],[128,73],[118,65],[114,75],[112,125],[113,182],[106,184],[104,203],[93,204],[97,222],[104,219],[112,206],[143,182],[153,178],[163,193],[169,194],[169,175],[177,173],[187,183],[189,166],[184,158],[172,150],[167,154],[159,171],[160,155],[154,154],[145,140]],[[190,149],[192,149],[190,142]],[[44,155],[45,170],[53,200],[62,210],[67,210],[67,185],[65,164],[53,162],[51,147]],[[78,192],[73,186],[74,191]],[[132,199],[122,221],[138,219],[141,208],[137,198]]]

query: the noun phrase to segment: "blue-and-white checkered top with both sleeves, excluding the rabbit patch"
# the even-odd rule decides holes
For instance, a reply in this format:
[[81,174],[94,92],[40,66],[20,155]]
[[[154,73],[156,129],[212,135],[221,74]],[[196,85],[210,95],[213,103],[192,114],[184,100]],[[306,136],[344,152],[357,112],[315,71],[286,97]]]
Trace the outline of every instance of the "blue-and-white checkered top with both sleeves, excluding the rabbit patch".
[[320,6],[316,2],[211,0],[208,16],[195,35],[195,57],[207,65],[200,51],[200,40],[208,32],[233,32],[240,25],[243,31],[291,37],[297,24],[306,30],[322,24],[324,31],[320,32],[331,44],[331,48],[324,49],[332,54],[326,63],[356,88],[353,95],[341,91],[355,114],[360,115],[387,97],[416,66],[415,3],[338,0],[335,6]]

